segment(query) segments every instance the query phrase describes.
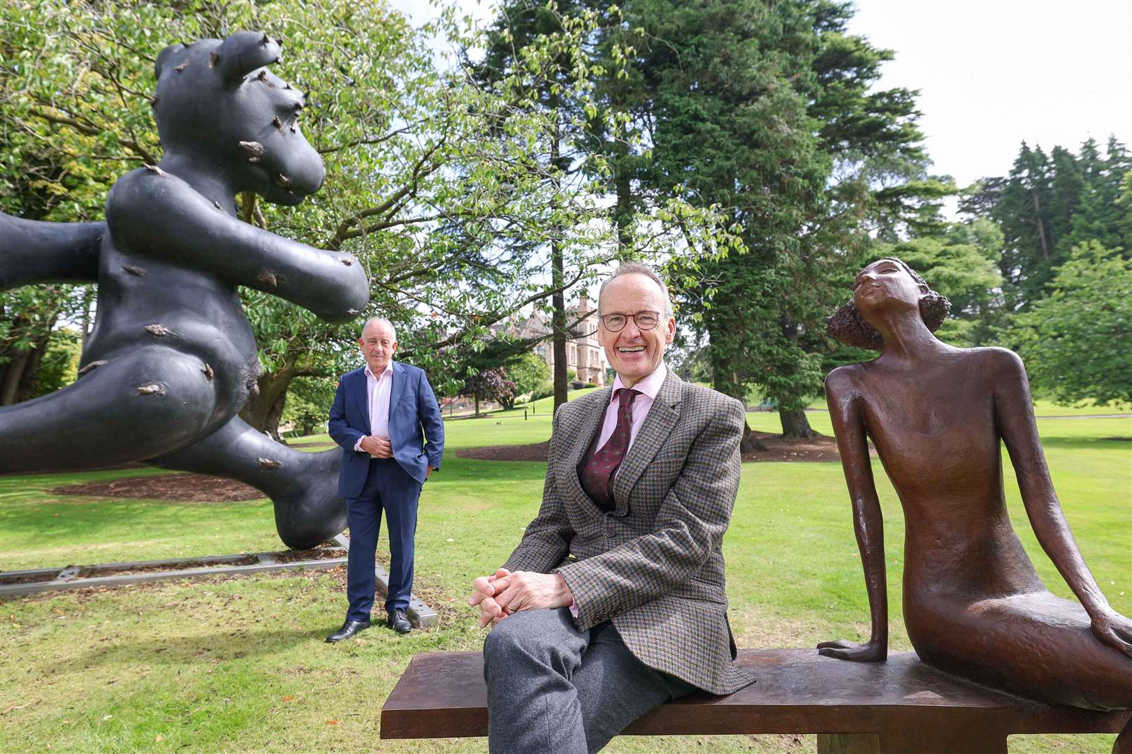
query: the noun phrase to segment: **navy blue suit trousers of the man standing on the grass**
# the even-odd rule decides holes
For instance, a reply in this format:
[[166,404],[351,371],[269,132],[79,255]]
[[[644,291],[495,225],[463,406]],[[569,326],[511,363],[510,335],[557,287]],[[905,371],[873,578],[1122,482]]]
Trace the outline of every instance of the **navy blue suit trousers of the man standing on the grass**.
[[374,562],[381,511],[389,530],[389,593],[386,612],[409,607],[413,589],[413,536],[417,534],[417,502],[421,484],[391,458],[369,461],[361,494],[346,500],[350,526],[350,558],[346,564],[348,621],[368,621],[374,607]]

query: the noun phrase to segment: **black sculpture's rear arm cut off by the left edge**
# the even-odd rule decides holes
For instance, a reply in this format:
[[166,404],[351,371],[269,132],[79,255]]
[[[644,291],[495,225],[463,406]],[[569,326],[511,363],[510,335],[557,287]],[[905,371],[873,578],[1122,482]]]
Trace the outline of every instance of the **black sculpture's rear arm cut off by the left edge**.
[[97,280],[105,234],[105,223],[41,223],[0,213],[0,291]]

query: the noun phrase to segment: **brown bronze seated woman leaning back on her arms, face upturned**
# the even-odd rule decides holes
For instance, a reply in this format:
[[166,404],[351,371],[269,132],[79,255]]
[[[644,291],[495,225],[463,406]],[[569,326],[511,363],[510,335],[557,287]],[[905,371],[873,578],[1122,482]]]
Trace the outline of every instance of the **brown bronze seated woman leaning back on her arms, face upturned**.
[[[873,629],[865,643],[823,642],[820,651],[858,661],[887,652],[871,439],[904,510],[904,625],[920,659],[1040,701],[1130,708],[1132,621],[1105,599],[1062,514],[1022,362],[1002,348],[936,339],[949,306],[902,261],[881,259],[826,320],[833,337],[881,355],[826,380]],[[1045,588],[1011,528],[1000,440],[1038,541],[1080,604]],[[1130,746],[1125,729],[1116,751]]]

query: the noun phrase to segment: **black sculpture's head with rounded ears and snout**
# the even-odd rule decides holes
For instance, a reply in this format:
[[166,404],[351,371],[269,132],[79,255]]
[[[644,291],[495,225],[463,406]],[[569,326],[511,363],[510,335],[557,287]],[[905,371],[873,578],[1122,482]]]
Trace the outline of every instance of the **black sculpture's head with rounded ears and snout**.
[[297,122],[306,97],[268,72],[278,60],[278,42],[256,32],[165,47],[153,106],[166,154],[278,205],[317,191],[326,168]]

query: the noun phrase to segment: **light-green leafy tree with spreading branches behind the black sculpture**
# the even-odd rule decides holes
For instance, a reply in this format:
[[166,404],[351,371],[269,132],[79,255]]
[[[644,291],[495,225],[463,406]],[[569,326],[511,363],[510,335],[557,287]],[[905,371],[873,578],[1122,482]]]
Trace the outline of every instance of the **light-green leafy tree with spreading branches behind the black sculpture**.
[[[392,319],[403,357],[440,371],[454,358],[449,346],[482,340],[511,312],[593,275],[582,262],[608,246],[608,227],[594,222],[606,209],[585,184],[564,185],[532,148],[532,139],[567,119],[529,97],[552,61],[584,61],[585,19],[540,35],[508,76],[488,86],[435,53],[437,41],[483,46],[452,9],[413,29],[381,0],[242,0],[192,3],[191,12],[183,3],[139,0],[3,3],[0,180],[12,185],[22,166],[41,166],[27,174],[53,202],[49,219],[100,216],[120,173],[160,157],[148,105],[156,53],[177,40],[238,28],[284,40],[280,72],[308,93],[303,130],[327,166],[326,187],[300,207],[245,196],[242,217],[363,260],[371,295],[360,314]],[[580,75],[560,96],[586,112],[595,106],[590,88]],[[34,216],[31,207],[5,205],[22,216]],[[538,244],[548,240],[577,261],[577,275],[543,275]],[[28,313],[42,307],[15,293],[24,297],[5,300],[14,302],[5,319],[32,320]],[[357,326],[329,327],[286,302],[243,296],[265,366],[243,416],[274,431],[291,380],[350,365]],[[35,314],[41,337],[59,318],[52,305]],[[0,333],[9,336],[24,350],[38,343],[12,328]]]

